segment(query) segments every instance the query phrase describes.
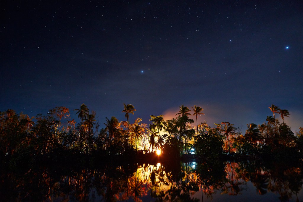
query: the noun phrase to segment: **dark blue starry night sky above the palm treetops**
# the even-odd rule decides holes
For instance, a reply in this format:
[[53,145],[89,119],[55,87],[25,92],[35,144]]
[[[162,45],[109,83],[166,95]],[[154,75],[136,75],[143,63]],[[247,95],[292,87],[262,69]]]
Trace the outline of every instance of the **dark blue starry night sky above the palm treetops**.
[[[209,125],[303,126],[302,1],[1,1],[0,111],[85,103],[103,127],[123,103]],[[277,114],[276,117],[279,117]],[[195,119],[194,116],[192,116]],[[280,118],[281,120],[281,118]],[[281,120],[282,122],[282,120]]]

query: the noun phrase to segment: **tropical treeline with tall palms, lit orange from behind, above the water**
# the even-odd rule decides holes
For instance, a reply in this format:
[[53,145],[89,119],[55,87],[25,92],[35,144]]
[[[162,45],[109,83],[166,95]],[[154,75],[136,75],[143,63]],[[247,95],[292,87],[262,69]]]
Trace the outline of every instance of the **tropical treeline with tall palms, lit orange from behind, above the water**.
[[[95,112],[89,111],[85,104],[74,110],[81,121],[78,124],[71,120],[66,107],[56,107],[48,114],[32,118],[9,109],[0,113],[1,163],[14,166],[79,157],[133,159],[138,154],[156,152],[168,158],[179,158],[182,154],[195,154],[199,158],[220,158],[222,154],[302,158],[302,127],[294,134],[284,123],[284,118],[290,115],[288,111],[275,105],[269,108],[273,116],[267,116],[258,126],[247,124],[245,134],[229,122],[213,127],[206,121],[199,124],[197,116],[203,114],[203,109],[198,106],[190,110],[182,105],[176,118],[166,121],[162,115],[151,115],[149,126],[141,123],[141,118],[134,123],[128,121],[129,115],[136,111],[131,104],[124,104],[122,108],[126,121],[111,117],[105,118],[104,123],[98,123]],[[275,118],[276,114],[281,116],[283,123]]]

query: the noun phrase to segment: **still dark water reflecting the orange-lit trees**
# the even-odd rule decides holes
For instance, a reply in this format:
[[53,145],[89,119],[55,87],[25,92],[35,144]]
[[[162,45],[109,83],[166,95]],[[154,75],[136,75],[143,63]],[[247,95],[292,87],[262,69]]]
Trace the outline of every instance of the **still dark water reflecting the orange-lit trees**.
[[2,201],[302,201],[302,164],[259,161],[35,167],[2,173]]

